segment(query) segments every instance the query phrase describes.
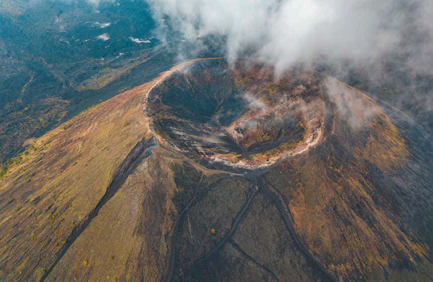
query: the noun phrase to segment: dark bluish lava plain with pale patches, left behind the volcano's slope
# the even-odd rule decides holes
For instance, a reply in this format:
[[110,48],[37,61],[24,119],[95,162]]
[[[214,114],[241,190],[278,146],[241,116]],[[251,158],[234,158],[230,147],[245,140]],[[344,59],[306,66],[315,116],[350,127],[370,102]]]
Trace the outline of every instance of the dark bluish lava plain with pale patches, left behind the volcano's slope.
[[85,0],[5,0],[0,27],[2,164],[27,138],[151,81],[174,62],[152,38],[154,22],[141,1],[96,7]]

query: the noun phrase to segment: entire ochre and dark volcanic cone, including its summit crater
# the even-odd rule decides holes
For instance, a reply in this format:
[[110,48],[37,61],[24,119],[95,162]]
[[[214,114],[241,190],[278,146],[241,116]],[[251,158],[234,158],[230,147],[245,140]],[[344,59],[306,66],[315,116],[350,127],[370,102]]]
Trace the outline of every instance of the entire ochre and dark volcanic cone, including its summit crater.
[[431,281],[424,133],[308,70],[184,62],[30,141],[0,280]]

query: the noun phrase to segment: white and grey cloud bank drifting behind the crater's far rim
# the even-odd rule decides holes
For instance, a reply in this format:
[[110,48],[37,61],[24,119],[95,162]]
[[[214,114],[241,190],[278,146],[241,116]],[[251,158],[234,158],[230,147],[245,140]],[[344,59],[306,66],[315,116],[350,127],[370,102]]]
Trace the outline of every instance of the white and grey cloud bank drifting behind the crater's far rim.
[[[197,54],[209,48],[206,40],[211,37],[220,39],[211,43],[221,44],[229,62],[251,56],[273,65],[277,75],[302,64],[325,66],[328,74],[349,81],[356,69],[360,70],[356,76],[364,75],[364,84],[371,86],[364,90],[382,91],[388,83],[388,88],[399,90],[388,96],[395,105],[427,112],[433,108],[431,0],[150,0],[149,4],[157,37],[170,43],[180,35],[195,42]],[[190,48],[189,53],[179,50],[181,58],[194,55]]]

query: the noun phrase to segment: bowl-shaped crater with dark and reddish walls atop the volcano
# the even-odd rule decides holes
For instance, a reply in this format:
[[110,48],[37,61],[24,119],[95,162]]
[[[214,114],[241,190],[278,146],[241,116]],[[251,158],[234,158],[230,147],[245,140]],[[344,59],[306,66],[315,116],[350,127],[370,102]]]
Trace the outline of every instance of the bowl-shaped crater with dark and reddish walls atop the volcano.
[[154,129],[201,163],[262,168],[305,152],[322,137],[323,86],[291,70],[278,79],[268,66],[196,61],[149,93]]

